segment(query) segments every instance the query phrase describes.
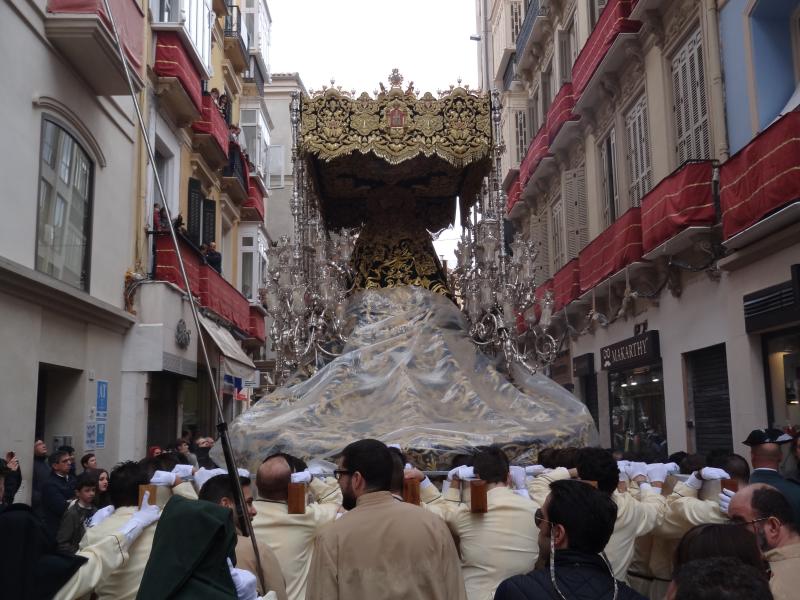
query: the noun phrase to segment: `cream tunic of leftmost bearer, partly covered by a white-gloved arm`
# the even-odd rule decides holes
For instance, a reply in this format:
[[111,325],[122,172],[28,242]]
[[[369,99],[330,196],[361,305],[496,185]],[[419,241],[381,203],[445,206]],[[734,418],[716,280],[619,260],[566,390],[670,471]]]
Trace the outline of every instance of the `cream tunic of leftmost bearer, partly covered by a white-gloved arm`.
[[[122,526],[136,510],[138,510],[136,506],[121,506],[102,523],[87,529],[86,535],[81,540],[81,550],[122,529]],[[156,525],[157,523],[153,523],[145,527],[128,550],[129,560],[97,584],[94,592],[97,594],[98,600],[134,600],[136,598],[144,568],[147,566],[147,559],[150,558]]]

